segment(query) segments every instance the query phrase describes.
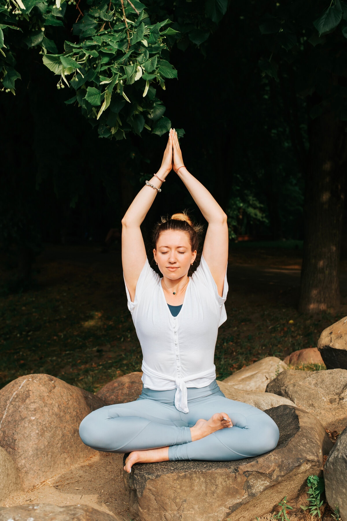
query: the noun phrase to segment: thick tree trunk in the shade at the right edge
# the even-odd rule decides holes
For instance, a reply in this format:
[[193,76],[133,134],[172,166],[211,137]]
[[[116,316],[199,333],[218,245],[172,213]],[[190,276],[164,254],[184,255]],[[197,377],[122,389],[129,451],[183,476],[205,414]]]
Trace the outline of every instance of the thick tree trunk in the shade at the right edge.
[[299,311],[336,311],[344,205],[347,133],[328,112],[312,120],[304,201]]

